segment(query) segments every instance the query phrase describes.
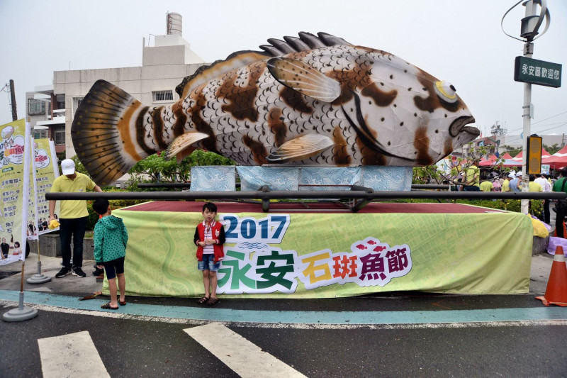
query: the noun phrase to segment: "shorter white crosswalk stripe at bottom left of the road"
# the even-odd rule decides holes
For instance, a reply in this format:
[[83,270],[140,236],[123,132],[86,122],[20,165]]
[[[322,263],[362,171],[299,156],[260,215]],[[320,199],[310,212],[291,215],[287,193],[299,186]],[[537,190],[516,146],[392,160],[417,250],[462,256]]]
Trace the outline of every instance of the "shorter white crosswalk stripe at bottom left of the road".
[[88,331],[38,339],[43,378],[110,377]]

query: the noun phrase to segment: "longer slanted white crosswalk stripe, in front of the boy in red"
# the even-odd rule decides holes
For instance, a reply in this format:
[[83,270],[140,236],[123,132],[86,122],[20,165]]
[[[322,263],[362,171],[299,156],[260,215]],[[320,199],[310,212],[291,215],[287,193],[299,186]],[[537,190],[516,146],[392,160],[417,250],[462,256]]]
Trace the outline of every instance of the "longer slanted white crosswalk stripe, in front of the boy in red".
[[184,331],[240,377],[305,377],[220,323],[186,328]]

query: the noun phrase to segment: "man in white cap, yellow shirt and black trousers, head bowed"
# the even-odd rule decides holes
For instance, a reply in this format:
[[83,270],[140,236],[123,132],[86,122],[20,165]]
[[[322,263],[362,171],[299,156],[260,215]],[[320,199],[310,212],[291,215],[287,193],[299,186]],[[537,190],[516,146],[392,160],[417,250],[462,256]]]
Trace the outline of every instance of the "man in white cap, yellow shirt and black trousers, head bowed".
[[[51,187],[52,193],[102,191],[86,174],[75,172],[75,163],[71,159],[61,162],[62,176],[57,177]],[[55,220],[55,200],[49,201],[49,221]],[[59,238],[61,240],[61,255],[63,267],[56,278],[65,277],[72,273],[85,277],[83,272],[83,239],[89,211],[84,200],[64,200],[60,204]],[[71,237],[73,238],[73,263],[71,264]]]

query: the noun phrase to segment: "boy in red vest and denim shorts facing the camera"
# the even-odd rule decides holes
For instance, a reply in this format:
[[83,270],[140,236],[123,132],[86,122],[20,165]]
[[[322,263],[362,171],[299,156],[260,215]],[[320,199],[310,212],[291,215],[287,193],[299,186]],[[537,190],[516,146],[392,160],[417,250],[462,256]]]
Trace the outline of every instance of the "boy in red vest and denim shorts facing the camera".
[[[217,272],[220,261],[225,257],[225,229],[220,222],[215,221],[217,206],[210,202],[203,205],[203,222],[197,225],[193,243],[197,246],[198,269],[203,271],[205,296],[197,301],[198,304],[214,306],[217,298]],[[210,291],[209,291],[210,289]]]

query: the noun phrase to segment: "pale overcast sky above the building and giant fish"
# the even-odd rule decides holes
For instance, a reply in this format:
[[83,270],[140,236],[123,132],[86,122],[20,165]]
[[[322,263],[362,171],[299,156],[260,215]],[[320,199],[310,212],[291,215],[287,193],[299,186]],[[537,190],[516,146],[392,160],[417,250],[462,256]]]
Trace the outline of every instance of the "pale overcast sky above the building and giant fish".
[[[483,135],[499,121],[522,132],[523,84],[513,79],[523,43],[500,28],[517,0],[0,0],[0,87],[15,82],[18,118],[26,91],[52,84],[53,71],[142,65],[142,38],[166,33],[167,11],[183,17],[183,36],[206,62],[259,50],[267,38],[299,31],[340,36],[386,50],[457,89]],[[547,0],[551,26],[534,43],[534,58],[567,63],[567,1]],[[505,18],[519,38],[520,4]],[[543,30],[543,26],[541,27]],[[564,75],[563,75],[564,76]],[[532,133],[567,134],[567,80],[532,86]],[[173,88],[172,88],[173,89]],[[0,124],[11,121],[0,92]]]

